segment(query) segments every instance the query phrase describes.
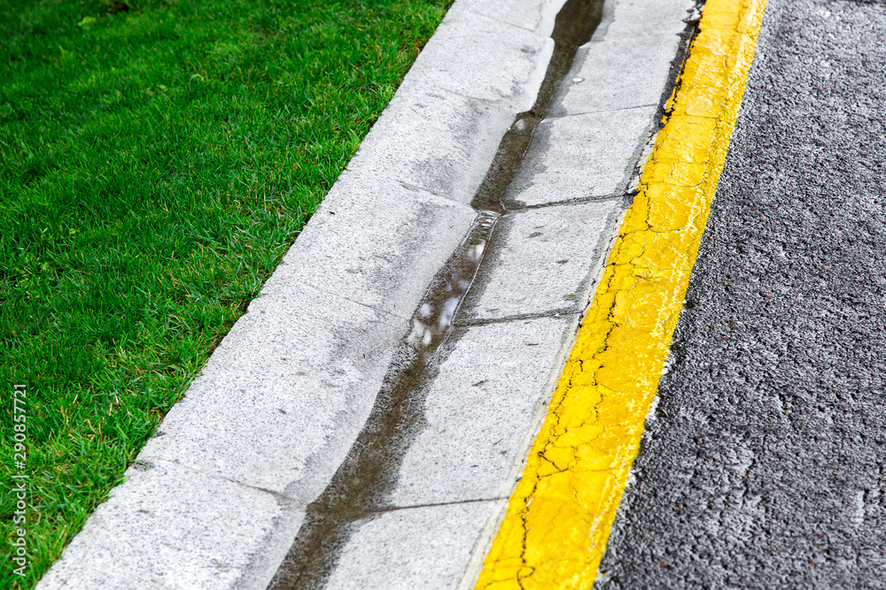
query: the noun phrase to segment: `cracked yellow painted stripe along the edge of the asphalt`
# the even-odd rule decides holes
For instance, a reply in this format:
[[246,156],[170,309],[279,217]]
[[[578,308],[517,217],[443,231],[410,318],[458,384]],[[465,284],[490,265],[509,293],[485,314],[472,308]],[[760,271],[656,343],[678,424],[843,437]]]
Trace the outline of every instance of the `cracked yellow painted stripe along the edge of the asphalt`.
[[477,588],[590,588],[671,344],[766,0],[708,0]]

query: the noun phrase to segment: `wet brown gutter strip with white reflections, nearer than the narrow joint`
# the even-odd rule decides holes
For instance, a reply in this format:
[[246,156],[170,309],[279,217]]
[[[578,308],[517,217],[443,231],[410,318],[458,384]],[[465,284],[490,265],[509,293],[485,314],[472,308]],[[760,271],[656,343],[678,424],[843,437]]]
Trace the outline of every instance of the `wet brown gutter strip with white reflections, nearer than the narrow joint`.
[[410,332],[394,353],[366,425],[323,494],[308,504],[305,522],[269,589],[323,587],[355,523],[390,510],[385,497],[409,441],[424,422],[422,386],[445,360],[439,349],[453,331],[455,314],[478,272],[498,217],[481,211],[431,282]]

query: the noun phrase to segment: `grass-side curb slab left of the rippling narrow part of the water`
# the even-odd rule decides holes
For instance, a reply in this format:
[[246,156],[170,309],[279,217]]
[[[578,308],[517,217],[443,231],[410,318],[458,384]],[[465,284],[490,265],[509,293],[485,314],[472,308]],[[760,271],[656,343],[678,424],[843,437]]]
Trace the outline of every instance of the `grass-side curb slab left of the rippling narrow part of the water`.
[[257,301],[310,285],[410,318],[475,217],[468,205],[379,172],[343,172]]

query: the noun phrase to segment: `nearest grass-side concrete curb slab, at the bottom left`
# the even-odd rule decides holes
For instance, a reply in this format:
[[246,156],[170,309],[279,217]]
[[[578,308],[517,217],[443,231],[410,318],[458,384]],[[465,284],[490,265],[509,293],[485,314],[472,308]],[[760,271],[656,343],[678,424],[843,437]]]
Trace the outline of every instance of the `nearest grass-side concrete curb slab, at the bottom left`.
[[[276,565],[282,555],[254,556],[243,549],[275,545],[269,541],[297,529],[304,515],[298,502],[278,494],[165,461],[134,464],[127,476],[113,501],[97,508],[66,549],[82,563],[60,563],[41,586],[196,589],[257,581],[258,587],[256,559]],[[140,563],[137,575],[128,570]]]

